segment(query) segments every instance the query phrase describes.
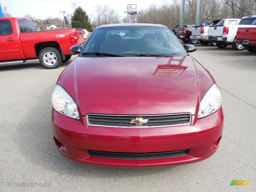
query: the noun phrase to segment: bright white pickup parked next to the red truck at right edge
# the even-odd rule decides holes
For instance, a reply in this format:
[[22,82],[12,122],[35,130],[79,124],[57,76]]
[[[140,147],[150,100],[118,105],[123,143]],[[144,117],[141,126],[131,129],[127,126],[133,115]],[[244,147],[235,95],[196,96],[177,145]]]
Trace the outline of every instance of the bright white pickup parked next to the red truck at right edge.
[[234,42],[240,20],[241,19],[221,19],[216,25],[209,27],[208,40],[216,42],[218,48],[223,49],[228,45],[232,45],[235,50],[243,50],[243,45]]

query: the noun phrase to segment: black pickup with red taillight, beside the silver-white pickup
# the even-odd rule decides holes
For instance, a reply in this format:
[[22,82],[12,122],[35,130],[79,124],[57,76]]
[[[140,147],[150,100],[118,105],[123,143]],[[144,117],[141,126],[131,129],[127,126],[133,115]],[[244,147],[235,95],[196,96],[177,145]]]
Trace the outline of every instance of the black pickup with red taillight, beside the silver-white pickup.
[[190,39],[190,35],[192,33],[192,26],[195,26],[195,24],[185,24],[183,28],[176,28],[176,35],[179,39],[181,39],[184,43],[191,43],[196,44],[198,43],[198,40],[196,39]]

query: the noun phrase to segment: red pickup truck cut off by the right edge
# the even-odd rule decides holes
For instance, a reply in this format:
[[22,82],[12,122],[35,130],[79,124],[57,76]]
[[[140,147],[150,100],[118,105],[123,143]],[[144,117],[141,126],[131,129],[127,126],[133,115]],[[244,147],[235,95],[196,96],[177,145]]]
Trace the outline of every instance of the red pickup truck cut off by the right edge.
[[245,46],[249,52],[256,53],[256,15],[243,17],[242,21],[245,26],[237,29],[234,41]]

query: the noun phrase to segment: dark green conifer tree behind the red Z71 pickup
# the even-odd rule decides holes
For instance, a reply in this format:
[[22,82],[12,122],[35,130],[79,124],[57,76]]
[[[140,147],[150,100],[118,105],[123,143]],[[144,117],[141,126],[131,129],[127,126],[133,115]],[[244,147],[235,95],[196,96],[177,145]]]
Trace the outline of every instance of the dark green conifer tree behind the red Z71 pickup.
[[92,31],[91,19],[89,19],[86,12],[80,6],[74,10],[71,23],[73,28],[83,28],[87,31]]

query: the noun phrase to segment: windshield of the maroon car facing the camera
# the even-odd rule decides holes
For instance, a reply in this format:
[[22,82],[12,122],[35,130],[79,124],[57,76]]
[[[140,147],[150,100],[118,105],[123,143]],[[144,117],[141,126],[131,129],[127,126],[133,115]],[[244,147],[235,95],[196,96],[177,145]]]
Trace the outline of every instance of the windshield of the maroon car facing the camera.
[[[90,53],[94,56],[107,53],[127,57],[187,55],[182,44],[170,29],[155,26],[98,28],[82,48],[80,57],[92,57]],[[104,54],[104,56],[107,55]]]

